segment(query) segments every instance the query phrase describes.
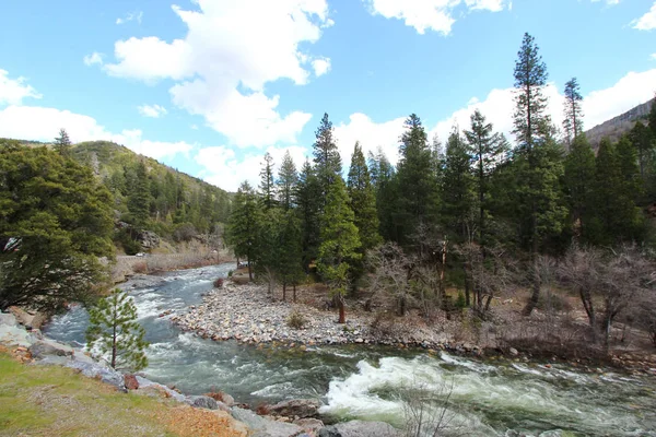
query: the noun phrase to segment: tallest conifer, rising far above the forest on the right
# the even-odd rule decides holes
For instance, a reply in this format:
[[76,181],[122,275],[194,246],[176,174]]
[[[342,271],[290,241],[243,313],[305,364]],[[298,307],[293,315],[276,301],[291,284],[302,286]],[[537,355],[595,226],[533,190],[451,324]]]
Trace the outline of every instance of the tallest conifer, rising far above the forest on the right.
[[[522,47],[515,62],[515,113],[513,133],[517,137],[519,153],[517,157],[525,160],[518,187],[523,191],[523,201],[526,202],[527,240],[534,261],[532,293],[524,314],[530,315],[540,297],[540,275],[538,274],[538,252],[541,237],[547,223],[539,223],[540,218],[549,221],[551,200],[557,192],[559,175],[551,173],[550,158],[547,147],[551,141],[551,120],[547,115],[547,66],[542,61],[535,38],[528,33],[524,35]],[[543,149],[543,150],[540,150]],[[540,204],[547,203],[547,204]],[[541,232],[542,231],[542,232]],[[540,235],[542,234],[542,235]]]

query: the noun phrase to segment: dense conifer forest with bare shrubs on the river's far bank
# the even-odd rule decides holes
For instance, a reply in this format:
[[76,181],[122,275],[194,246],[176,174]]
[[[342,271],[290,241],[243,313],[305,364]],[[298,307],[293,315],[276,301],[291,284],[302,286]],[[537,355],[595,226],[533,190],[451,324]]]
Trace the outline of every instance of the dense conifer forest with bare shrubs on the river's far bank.
[[[619,141],[595,151],[584,133],[576,78],[565,86],[564,123],[548,116],[547,66],[529,34],[514,69],[514,143],[476,111],[445,143],[419,116],[406,119],[395,166],[354,144],[347,177],[324,115],[313,160],[285,155],[273,174],[234,197],[227,241],[249,275],[288,286],[325,282],[345,321],[349,298],[398,316],[471,308],[481,320],[508,290],[526,293],[524,316],[553,287],[578,296],[591,339],[608,347],[612,323],[651,332],[656,345],[656,105]],[[645,91],[648,94],[648,91]],[[647,97],[648,98],[648,97]],[[449,290],[456,290],[448,292]],[[558,340],[558,339],[557,339]],[[558,340],[560,341],[560,340]]]

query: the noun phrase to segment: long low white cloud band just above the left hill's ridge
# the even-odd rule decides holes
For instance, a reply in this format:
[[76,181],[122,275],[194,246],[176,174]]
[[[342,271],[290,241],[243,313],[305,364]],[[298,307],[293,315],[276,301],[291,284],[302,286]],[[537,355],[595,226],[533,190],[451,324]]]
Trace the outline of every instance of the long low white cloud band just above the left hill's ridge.
[[94,118],[69,110],[15,105],[0,110],[2,137],[48,142],[52,141],[61,128],[68,131],[73,142],[114,141],[155,160],[178,153],[188,153],[192,149],[191,144],[181,141],[172,143],[145,140],[139,129],[127,129],[120,133],[113,133]]

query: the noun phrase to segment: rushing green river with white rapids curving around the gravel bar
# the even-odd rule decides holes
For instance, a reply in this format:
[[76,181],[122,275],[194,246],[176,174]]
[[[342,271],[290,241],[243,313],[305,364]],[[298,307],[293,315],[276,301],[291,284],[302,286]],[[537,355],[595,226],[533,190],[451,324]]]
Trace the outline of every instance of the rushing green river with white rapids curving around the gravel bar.
[[[396,426],[417,403],[399,393],[420,388],[438,403],[448,400],[449,427],[465,436],[656,436],[656,378],[649,376],[362,345],[258,349],[203,340],[157,317],[198,305],[233,267],[165,273],[153,286],[130,290],[150,343],[148,378],[190,394],[223,390],[251,406],[319,398],[333,420]],[[86,311],[73,307],[55,317],[45,334],[82,346],[87,322]]]

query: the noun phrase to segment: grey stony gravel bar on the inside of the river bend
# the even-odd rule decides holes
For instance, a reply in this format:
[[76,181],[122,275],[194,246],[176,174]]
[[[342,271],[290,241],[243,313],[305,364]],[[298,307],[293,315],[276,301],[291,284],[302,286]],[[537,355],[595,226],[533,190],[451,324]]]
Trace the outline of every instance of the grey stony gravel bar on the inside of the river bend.
[[212,290],[201,305],[189,307],[188,312],[171,316],[183,330],[215,341],[283,343],[301,347],[356,343],[482,353],[477,345],[453,342],[445,332],[414,322],[396,321],[394,329],[388,329],[371,312],[348,310],[345,324],[337,323],[337,319],[336,310],[274,300],[263,285],[236,285],[231,281]]

